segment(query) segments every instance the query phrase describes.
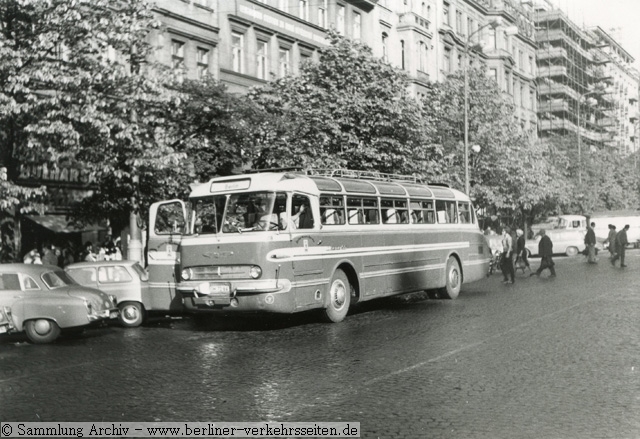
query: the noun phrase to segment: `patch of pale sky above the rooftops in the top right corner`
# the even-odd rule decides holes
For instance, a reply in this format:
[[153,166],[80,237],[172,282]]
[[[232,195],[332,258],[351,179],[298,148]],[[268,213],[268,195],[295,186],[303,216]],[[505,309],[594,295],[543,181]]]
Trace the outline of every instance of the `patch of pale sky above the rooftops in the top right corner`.
[[640,0],[552,0],[576,24],[600,26],[640,69]]

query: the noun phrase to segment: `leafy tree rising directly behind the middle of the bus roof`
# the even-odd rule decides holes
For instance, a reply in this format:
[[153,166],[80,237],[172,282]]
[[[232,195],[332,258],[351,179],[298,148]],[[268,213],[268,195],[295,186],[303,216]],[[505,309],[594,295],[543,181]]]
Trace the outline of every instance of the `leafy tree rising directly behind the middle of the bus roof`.
[[298,76],[251,91],[271,117],[261,125],[258,168],[346,167],[387,173],[439,175],[438,148],[409,95],[404,73],[371,49],[335,32]]

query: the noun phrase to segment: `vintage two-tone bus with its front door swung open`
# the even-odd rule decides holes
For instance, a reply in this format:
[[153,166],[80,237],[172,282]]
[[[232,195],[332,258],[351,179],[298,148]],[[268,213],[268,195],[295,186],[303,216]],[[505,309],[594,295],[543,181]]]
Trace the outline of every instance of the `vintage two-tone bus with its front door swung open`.
[[152,287],[194,313],[321,309],[331,322],[382,296],[455,299],[491,252],[463,193],[354,171],[214,178],[150,210]]

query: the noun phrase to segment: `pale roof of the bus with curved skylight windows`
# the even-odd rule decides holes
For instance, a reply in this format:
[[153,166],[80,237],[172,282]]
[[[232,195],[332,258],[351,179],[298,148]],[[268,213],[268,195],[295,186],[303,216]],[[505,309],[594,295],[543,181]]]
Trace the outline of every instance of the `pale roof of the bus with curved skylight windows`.
[[366,177],[331,177],[304,175],[294,172],[262,172],[217,177],[193,188],[190,197],[199,198],[216,193],[254,191],[298,191],[319,195],[340,193],[381,196],[412,196],[416,198],[444,198],[468,201],[462,192],[443,186],[408,181],[381,181]]

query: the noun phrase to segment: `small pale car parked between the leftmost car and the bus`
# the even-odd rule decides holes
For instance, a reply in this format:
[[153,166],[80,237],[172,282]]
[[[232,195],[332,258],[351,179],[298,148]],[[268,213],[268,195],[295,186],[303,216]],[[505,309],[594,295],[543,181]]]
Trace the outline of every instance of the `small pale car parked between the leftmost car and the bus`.
[[80,285],[97,288],[118,299],[120,323],[140,326],[146,318],[143,298],[149,291],[149,276],[136,261],[77,262],[65,267]]

